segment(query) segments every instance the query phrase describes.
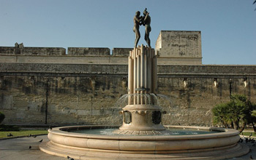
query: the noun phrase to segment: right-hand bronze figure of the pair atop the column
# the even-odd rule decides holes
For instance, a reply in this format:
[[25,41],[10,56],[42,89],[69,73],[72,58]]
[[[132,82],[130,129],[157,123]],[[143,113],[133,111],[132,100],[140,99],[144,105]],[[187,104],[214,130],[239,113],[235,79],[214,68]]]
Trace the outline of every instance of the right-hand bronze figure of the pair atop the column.
[[151,32],[151,17],[149,16],[149,12],[147,11],[147,8],[143,12],[143,18],[142,18],[142,24],[145,26],[145,36],[144,39],[148,44],[148,47],[150,46],[150,39],[149,39],[149,33]]

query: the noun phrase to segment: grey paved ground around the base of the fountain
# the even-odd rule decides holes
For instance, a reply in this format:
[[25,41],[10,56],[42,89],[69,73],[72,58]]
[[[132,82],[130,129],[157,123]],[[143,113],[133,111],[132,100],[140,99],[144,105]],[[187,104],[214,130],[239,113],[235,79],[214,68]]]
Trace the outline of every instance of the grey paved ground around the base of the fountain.
[[[64,160],[67,158],[51,156],[39,150],[39,140],[48,140],[46,135],[37,137],[20,137],[7,140],[0,140],[0,159],[1,160]],[[256,146],[252,143],[245,143],[251,148],[251,151],[245,156],[234,158],[236,160],[250,159],[252,156],[256,159]],[[256,144],[256,143],[255,143]],[[29,145],[31,149],[29,149]]]

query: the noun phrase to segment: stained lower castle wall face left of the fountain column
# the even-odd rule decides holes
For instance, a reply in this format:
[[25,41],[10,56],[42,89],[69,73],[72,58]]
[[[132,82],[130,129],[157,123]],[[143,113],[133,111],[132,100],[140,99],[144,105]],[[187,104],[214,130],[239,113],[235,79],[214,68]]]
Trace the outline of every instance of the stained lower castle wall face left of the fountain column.
[[[34,76],[34,85],[26,86],[29,79],[4,76],[7,85],[0,89],[0,111],[5,113],[6,123],[45,124],[47,79]],[[116,88],[122,80],[115,79],[95,77],[92,84],[90,77],[49,78],[48,124],[121,123],[113,106],[126,88]]]

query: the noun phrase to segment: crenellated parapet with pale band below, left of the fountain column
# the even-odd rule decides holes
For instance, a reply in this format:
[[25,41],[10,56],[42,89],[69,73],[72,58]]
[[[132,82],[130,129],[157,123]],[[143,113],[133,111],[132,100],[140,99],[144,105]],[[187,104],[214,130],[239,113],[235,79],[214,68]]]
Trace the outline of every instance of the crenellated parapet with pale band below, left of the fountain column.
[[[19,52],[17,52],[17,49]],[[0,63],[72,63],[72,64],[127,64],[132,48],[69,47],[0,47]]]

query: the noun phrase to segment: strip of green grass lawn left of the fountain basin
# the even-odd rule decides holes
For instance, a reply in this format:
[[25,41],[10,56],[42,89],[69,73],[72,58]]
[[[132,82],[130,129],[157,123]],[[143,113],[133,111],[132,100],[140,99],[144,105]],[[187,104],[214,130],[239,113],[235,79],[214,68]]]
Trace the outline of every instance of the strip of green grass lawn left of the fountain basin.
[[47,130],[20,130],[20,131],[1,131],[0,138],[7,137],[12,133],[13,137],[17,136],[28,136],[28,135],[41,135],[41,134],[48,134]]

